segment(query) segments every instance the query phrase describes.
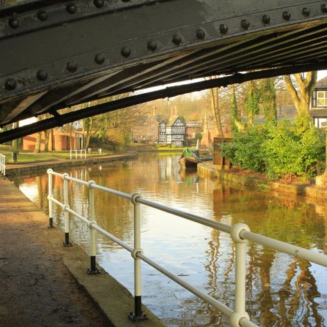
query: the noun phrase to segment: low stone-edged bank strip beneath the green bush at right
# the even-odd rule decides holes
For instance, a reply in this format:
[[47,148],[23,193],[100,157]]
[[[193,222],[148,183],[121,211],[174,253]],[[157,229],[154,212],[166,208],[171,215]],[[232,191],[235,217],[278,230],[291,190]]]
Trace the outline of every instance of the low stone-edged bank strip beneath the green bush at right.
[[253,186],[264,190],[273,190],[277,192],[286,192],[294,195],[303,195],[319,203],[326,201],[327,189],[319,188],[315,184],[302,183],[282,183],[280,181],[269,181],[255,172],[250,174],[240,173],[237,169],[217,170],[212,161],[206,161],[197,165],[197,172],[202,177],[212,177],[221,181],[231,181],[235,184],[244,186]]

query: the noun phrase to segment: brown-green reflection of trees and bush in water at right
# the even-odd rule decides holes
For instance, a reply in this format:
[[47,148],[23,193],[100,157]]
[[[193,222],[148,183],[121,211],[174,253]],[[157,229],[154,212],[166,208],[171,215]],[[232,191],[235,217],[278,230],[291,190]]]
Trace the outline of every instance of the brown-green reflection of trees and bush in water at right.
[[[231,224],[245,222],[253,232],[304,248],[311,248],[313,244],[324,244],[324,230],[321,230],[321,219],[317,218],[315,207],[301,201],[280,201],[268,194],[222,186],[214,191],[214,211],[217,220],[230,214]],[[234,256],[230,256],[228,262],[222,262],[226,248],[219,242],[219,232],[212,232],[211,236],[208,240],[205,266],[209,272],[208,289],[211,295],[215,295],[219,284],[220,290],[224,289],[221,299],[227,303],[231,293],[233,294],[227,284],[234,283],[229,280],[229,270],[234,269]],[[234,244],[231,246],[235,248]],[[323,326],[324,319],[319,315],[315,302],[320,293],[310,271],[310,263],[298,260],[287,267],[279,262],[281,269],[274,276],[271,274],[276,269],[276,259],[274,250],[248,244],[246,287],[250,317],[255,317],[261,326],[291,326],[300,321],[304,326]],[[224,266],[224,274],[217,274],[217,266]],[[286,277],[282,286],[274,286],[270,280],[275,280],[276,277],[283,279],[284,276]],[[217,324],[215,310],[208,308],[208,311],[210,324]]]

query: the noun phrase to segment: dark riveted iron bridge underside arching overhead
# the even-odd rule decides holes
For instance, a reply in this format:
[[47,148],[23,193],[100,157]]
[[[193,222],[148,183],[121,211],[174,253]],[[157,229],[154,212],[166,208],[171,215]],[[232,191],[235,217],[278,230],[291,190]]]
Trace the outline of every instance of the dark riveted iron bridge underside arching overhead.
[[[0,6],[0,143],[195,90],[327,69],[327,1],[39,0]],[[212,75],[182,86],[131,93]],[[70,113],[80,103],[123,95]]]

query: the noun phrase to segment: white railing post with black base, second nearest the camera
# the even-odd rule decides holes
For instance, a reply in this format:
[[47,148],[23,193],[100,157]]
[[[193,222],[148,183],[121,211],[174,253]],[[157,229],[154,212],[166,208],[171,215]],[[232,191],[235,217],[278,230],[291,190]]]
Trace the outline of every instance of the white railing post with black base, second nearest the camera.
[[141,259],[137,257],[139,252],[143,253],[141,249],[141,215],[140,205],[137,199],[141,197],[139,193],[132,194],[132,204],[134,205],[134,250],[132,257],[134,258],[134,313],[129,313],[128,317],[132,321],[148,320],[146,314],[142,311],[141,300]]

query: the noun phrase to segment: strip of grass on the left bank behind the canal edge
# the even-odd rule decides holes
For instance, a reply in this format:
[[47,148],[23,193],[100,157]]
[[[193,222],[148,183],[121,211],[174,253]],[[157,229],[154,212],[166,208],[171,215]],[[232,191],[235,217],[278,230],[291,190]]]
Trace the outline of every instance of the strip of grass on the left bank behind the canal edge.
[[[113,152],[102,151],[101,156],[103,155],[112,155]],[[12,164],[12,148],[11,146],[6,146],[0,144],[0,154],[6,156],[6,163]],[[99,152],[91,152],[88,154],[86,152],[86,157],[99,157]],[[77,158],[79,159],[80,152],[77,151]],[[72,152],[72,158],[75,159],[75,152]],[[32,151],[19,150],[19,155],[17,156],[17,164],[27,164],[34,162],[43,162],[43,161],[54,161],[58,159],[70,159],[69,151],[49,151],[49,152],[41,152],[34,153]]]

